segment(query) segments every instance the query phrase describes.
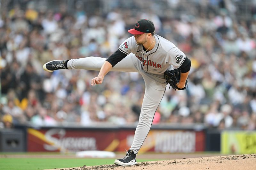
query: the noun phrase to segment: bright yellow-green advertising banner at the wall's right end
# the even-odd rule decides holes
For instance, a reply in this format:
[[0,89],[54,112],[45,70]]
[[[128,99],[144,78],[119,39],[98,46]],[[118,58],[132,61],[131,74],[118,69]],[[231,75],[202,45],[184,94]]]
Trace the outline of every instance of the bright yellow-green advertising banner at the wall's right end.
[[256,153],[256,131],[222,131],[221,153]]

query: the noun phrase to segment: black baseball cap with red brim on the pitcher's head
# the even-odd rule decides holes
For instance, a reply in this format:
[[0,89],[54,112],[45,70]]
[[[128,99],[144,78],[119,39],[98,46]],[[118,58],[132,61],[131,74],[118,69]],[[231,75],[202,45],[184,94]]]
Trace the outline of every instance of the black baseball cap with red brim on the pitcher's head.
[[155,26],[152,21],[147,19],[140,19],[136,22],[134,28],[128,30],[129,33],[137,35],[143,33],[153,33],[155,31]]

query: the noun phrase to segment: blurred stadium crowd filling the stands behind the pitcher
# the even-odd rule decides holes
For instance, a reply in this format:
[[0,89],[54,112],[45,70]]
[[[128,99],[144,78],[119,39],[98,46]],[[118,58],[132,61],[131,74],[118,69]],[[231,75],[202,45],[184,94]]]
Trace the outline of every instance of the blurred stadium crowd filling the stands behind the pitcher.
[[[92,87],[97,71],[50,73],[42,66],[51,60],[107,58],[132,36],[127,30],[134,22],[147,18],[156,34],[172,41],[192,62],[188,89],[167,86],[153,124],[256,129],[256,15],[239,20],[234,4],[203,1],[177,17],[174,11],[186,11],[186,1],[165,2],[162,16],[115,6],[107,13],[88,14],[79,1],[73,12],[65,4],[54,10],[33,2],[2,10],[0,127],[136,123],[145,87],[140,74],[110,72],[103,85]],[[157,9],[156,1],[149,4]],[[256,10],[250,12],[253,16]]]

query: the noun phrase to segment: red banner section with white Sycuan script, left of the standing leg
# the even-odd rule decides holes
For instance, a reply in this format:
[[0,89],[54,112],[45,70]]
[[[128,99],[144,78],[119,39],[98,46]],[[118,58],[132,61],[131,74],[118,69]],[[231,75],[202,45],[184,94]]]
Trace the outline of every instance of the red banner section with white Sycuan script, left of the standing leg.
[[29,128],[27,148],[28,152],[107,151],[116,148],[115,137],[115,131]]

